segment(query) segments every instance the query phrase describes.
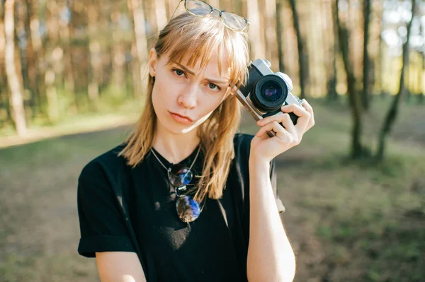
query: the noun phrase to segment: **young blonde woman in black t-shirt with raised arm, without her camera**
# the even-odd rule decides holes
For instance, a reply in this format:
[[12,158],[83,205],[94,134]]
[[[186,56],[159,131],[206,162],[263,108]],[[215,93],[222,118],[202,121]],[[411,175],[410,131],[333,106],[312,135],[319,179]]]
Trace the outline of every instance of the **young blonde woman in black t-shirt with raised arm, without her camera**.
[[312,107],[282,107],[256,136],[237,133],[231,90],[246,78],[247,21],[184,5],[149,52],[132,134],[81,172],[79,254],[96,257],[103,282],[292,281],[273,158],[314,125]]

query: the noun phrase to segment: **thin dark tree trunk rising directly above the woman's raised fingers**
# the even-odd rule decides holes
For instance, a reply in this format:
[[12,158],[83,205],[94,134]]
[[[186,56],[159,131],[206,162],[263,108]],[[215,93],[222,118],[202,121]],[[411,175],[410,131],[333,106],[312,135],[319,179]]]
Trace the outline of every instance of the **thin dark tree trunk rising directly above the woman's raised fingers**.
[[293,12],[293,25],[295,28],[295,33],[297,33],[297,47],[298,47],[298,64],[300,66],[300,88],[301,95],[300,98],[305,98],[305,86],[307,80],[307,71],[308,71],[308,60],[307,54],[305,53],[305,43],[301,35],[300,30],[300,20],[298,18],[297,6],[295,5],[295,0],[289,0],[290,8]]

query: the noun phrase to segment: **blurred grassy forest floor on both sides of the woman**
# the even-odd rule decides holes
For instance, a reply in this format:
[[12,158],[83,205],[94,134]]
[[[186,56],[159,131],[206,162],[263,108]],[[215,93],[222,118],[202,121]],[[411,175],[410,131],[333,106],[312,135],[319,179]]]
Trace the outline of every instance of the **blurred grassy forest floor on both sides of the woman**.
[[[400,107],[378,164],[348,160],[345,102],[310,102],[316,126],[276,159],[295,281],[425,281],[424,105]],[[365,115],[373,149],[388,102],[376,99]],[[0,282],[99,281],[95,260],[77,254],[77,178],[129,129],[0,149]],[[254,120],[244,117],[240,131],[255,134]]]

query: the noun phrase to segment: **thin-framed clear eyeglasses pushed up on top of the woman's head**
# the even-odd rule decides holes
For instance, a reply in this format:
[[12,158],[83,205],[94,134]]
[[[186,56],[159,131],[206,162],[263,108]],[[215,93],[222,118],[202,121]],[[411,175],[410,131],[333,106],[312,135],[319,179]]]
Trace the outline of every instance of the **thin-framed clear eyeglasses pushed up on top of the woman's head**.
[[[227,28],[235,31],[244,31],[249,25],[249,21],[236,13],[228,12],[225,10],[218,10],[212,7],[210,4],[200,0],[181,0],[184,1],[184,8],[188,13],[193,16],[206,17],[210,16],[214,11],[217,11],[220,15],[220,20],[224,23]],[[179,7],[179,5],[177,7]],[[176,8],[177,10],[177,8]],[[175,13],[176,11],[174,11]],[[173,13],[173,15],[174,15]],[[172,17],[171,17],[172,18]]]

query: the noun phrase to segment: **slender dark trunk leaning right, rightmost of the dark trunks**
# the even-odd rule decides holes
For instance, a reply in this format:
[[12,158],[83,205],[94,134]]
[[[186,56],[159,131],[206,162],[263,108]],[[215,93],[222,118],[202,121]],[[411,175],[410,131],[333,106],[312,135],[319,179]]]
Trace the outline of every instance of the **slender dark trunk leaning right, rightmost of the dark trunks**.
[[412,21],[414,18],[414,14],[416,11],[416,0],[412,0],[412,18],[410,19],[409,23],[407,24],[407,40],[403,44],[403,54],[402,54],[402,71],[400,74],[400,83],[399,83],[399,90],[397,95],[392,99],[392,103],[390,105],[390,108],[388,109],[388,112],[385,116],[385,120],[382,124],[382,129],[380,130],[379,134],[379,141],[378,141],[378,152],[376,155],[376,158],[378,160],[382,160],[385,155],[385,139],[387,138],[388,134],[390,134],[390,131],[392,129],[392,125],[395,123],[395,120],[397,119],[398,114],[398,108],[399,103],[401,101],[402,95],[404,91],[406,90],[404,86],[404,71],[405,68],[409,64],[409,40],[410,40],[410,32],[412,27]]

